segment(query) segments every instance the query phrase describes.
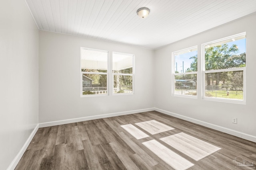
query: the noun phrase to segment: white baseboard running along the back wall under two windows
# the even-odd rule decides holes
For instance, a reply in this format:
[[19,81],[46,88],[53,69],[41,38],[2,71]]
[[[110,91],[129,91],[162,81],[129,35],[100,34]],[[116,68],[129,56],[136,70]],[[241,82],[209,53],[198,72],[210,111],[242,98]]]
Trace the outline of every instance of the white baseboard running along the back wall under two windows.
[[109,113],[109,114],[104,114],[104,115],[79,117],[79,118],[66,119],[66,120],[60,120],[60,121],[50,121],[50,122],[45,122],[45,123],[39,123],[39,127],[63,125],[63,124],[67,124],[67,123],[75,123],[75,122],[80,122],[80,121],[102,119],[102,118],[106,118],[106,117],[129,115],[129,114],[141,113],[141,112],[145,112],[145,111],[154,111],[154,110],[155,110],[155,108],[148,108],[148,109],[139,109],[139,110],[132,110],[132,111],[123,111],[123,112],[117,112],[117,113]]

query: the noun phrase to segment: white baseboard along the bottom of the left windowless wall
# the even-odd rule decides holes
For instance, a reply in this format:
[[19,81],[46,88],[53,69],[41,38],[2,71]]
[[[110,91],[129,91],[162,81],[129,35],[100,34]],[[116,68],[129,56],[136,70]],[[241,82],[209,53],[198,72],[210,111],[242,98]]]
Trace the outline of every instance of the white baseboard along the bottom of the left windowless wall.
[[30,144],[30,142],[32,141],[34,135],[36,134],[38,128],[39,128],[39,124],[36,125],[36,127],[34,128],[32,133],[29,135],[27,141],[24,143],[23,147],[20,149],[20,152],[18,152],[18,154],[16,155],[16,157],[14,158],[12,163],[9,165],[7,170],[14,170],[16,168],[16,166],[19,163],[21,157],[23,156],[23,154],[25,153],[26,149],[28,148],[28,145]]

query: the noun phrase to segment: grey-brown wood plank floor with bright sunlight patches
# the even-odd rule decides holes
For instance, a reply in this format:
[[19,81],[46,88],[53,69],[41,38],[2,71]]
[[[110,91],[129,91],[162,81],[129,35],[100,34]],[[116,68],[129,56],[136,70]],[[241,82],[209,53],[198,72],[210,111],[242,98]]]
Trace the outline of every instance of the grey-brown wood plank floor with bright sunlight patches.
[[237,170],[243,160],[256,164],[256,143],[150,111],[39,128],[16,170]]

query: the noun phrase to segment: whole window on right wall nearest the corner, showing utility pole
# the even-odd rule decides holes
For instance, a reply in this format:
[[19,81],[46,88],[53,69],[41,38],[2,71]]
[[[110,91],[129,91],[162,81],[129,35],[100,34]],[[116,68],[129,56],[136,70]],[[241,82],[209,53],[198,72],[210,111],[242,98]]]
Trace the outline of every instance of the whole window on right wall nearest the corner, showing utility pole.
[[172,95],[196,98],[197,46],[172,53]]

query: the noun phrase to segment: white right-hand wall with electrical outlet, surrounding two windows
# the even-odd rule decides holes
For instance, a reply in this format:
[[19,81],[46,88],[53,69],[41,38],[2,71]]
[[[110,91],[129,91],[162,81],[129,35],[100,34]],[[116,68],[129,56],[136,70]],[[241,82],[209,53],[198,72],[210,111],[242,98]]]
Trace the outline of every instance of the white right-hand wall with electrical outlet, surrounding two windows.
[[[256,45],[256,14],[227,23],[204,33],[172,43],[155,51],[156,81],[163,82],[156,89],[155,106],[167,112],[176,113],[180,117],[190,117],[215,127],[223,127],[253,135],[256,139],[256,77],[255,77],[255,45]],[[198,45],[198,61],[201,61],[201,44],[246,31],[246,104],[214,102],[201,99],[202,74],[198,72],[198,99],[171,96],[171,57],[173,51]],[[198,67],[198,70],[201,66]],[[164,92],[163,92],[164,90]],[[238,123],[232,123],[237,117]],[[190,119],[190,120],[192,120]],[[222,129],[223,129],[222,128]],[[216,128],[218,129],[218,128]],[[221,128],[220,128],[221,129]]]

